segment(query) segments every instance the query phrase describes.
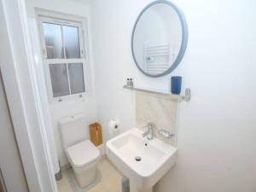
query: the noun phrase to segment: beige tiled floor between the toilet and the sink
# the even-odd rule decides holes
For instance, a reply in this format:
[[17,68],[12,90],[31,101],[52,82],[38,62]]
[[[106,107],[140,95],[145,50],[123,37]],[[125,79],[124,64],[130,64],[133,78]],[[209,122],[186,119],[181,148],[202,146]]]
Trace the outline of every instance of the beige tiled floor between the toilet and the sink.
[[98,174],[96,182],[92,183],[87,189],[76,189],[74,188],[74,179],[70,179],[70,175],[73,174],[71,170],[62,172],[61,181],[57,182],[59,192],[121,192],[121,180],[122,175],[113,165],[108,161],[107,158],[103,158],[97,165]]

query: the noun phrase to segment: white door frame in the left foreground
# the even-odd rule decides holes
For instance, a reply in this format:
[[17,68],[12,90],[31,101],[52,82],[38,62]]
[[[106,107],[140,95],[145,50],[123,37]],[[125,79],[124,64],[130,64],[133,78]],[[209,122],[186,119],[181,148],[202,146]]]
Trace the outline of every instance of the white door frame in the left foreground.
[[0,67],[28,188],[57,192],[24,0],[0,0],[0,29]]

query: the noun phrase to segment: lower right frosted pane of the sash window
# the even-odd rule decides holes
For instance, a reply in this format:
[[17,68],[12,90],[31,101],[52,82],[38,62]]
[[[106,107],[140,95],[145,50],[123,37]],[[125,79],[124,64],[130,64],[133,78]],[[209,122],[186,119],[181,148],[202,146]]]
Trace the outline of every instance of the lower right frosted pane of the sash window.
[[83,63],[68,64],[71,94],[84,92]]

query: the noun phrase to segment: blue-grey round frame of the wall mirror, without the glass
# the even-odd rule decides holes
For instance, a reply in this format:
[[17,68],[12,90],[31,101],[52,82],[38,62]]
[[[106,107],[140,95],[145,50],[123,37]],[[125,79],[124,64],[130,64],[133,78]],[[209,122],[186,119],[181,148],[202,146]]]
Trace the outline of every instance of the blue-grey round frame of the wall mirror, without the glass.
[[[152,75],[152,74],[145,73],[143,71],[143,69],[138,65],[137,60],[136,60],[136,56],[135,56],[135,53],[134,53],[134,49],[133,49],[133,38],[134,38],[134,35],[135,35],[135,30],[136,30],[138,21],[141,19],[141,17],[144,14],[144,12],[146,10],[148,10],[148,8],[154,6],[155,4],[160,4],[160,3],[166,4],[166,5],[170,6],[170,7],[172,7],[172,9],[174,9],[176,11],[176,13],[178,15],[178,18],[179,18],[179,20],[181,22],[181,26],[182,26],[182,44],[181,44],[181,47],[180,47],[179,52],[177,54],[177,58],[176,58],[176,60],[172,64],[172,67],[167,69],[166,72],[164,72],[164,73],[160,73],[160,74],[157,74],[157,75]],[[167,75],[169,73],[172,73],[172,71],[178,66],[180,61],[182,61],[182,59],[183,59],[183,55],[185,54],[185,51],[187,49],[187,44],[188,44],[188,33],[189,32],[188,32],[187,21],[185,19],[185,16],[183,15],[183,11],[181,9],[177,8],[177,6],[174,3],[166,1],[166,0],[157,0],[157,1],[154,1],[153,3],[149,3],[143,9],[143,11],[140,13],[140,15],[138,15],[137,20],[136,20],[135,25],[133,26],[133,30],[132,30],[131,52],[132,52],[133,60],[135,61],[136,65],[137,65],[137,68],[143,74],[145,74],[145,75],[147,75],[148,77],[151,77],[151,78],[159,78],[159,77],[165,76],[165,75]]]

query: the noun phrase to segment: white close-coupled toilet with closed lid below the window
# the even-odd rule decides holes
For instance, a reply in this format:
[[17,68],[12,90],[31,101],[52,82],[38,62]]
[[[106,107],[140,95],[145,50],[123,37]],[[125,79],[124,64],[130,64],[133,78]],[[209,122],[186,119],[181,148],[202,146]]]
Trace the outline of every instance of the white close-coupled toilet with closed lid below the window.
[[85,187],[96,179],[96,164],[100,152],[88,140],[88,124],[83,113],[59,121],[62,144],[74,175],[80,185]]

